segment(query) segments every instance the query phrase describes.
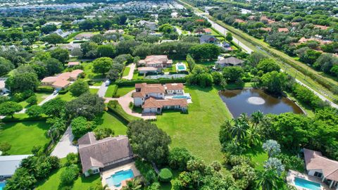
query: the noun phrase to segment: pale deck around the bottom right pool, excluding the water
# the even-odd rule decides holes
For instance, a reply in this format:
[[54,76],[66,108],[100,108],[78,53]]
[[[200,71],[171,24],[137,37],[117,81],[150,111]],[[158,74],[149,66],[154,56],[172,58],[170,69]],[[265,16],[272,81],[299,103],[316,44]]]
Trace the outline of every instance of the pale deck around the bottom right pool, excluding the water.
[[294,178],[295,177],[299,177],[301,179],[306,179],[306,180],[311,181],[311,182],[317,182],[318,184],[321,185],[320,189],[330,190],[329,186],[327,186],[327,184],[323,183],[322,180],[319,177],[314,177],[314,176],[311,176],[311,175],[303,174],[301,172],[296,172],[294,170],[289,170],[289,172],[287,172],[287,183],[291,184],[292,186],[295,186],[296,189],[308,190],[308,189],[303,188],[301,186],[296,186],[296,184],[294,184]]

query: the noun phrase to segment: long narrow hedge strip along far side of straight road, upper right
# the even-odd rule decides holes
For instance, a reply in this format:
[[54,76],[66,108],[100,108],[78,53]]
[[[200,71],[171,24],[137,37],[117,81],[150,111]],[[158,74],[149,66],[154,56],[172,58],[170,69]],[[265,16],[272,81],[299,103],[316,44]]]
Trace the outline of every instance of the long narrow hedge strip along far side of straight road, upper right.
[[[215,20],[215,19],[213,19]],[[218,22],[218,20],[215,20],[216,22]],[[239,34],[238,32],[232,30],[231,27],[227,27],[227,30],[229,30],[230,32],[239,35],[239,37],[242,37],[243,39],[245,39],[248,42],[251,42],[251,44],[255,45],[255,46],[259,46],[261,49],[263,49],[264,51],[267,51],[268,53],[270,53],[270,55],[275,56],[277,58],[280,59],[280,61],[287,63],[288,65],[291,65],[292,68],[295,68],[296,70],[298,70],[299,72],[303,73],[303,75],[307,75],[309,77],[311,77],[312,80],[318,82],[319,84],[321,84],[323,87],[327,88],[327,89],[333,89],[334,87],[337,87],[337,85],[334,85],[332,82],[329,82],[327,80],[325,80],[324,77],[320,77],[319,75],[315,75],[311,72],[306,72],[306,68],[301,67],[300,65],[298,65],[297,63],[294,63],[292,61],[287,60],[287,58],[284,58],[282,56],[280,56],[279,54],[271,51],[269,48],[266,48],[265,46],[261,46],[261,44],[258,44],[257,42],[255,42],[254,40],[249,39],[248,37]],[[335,101],[337,102],[337,101]]]

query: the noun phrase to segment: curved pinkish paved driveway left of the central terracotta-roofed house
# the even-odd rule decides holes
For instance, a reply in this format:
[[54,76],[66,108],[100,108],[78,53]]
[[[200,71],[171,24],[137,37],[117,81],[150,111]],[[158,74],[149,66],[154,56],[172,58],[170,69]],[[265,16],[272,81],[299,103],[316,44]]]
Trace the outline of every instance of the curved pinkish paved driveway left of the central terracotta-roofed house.
[[156,119],[156,115],[154,113],[137,113],[134,112],[132,109],[130,109],[129,107],[129,103],[130,102],[134,102],[134,99],[132,99],[132,93],[133,91],[130,91],[128,94],[125,94],[125,96],[121,96],[118,99],[113,99],[113,98],[105,98],[106,101],[105,103],[108,103],[111,100],[117,100],[118,103],[120,103],[121,107],[123,108],[123,110],[125,110],[125,113],[132,115],[134,117],[137,118],[142,118],[144,120],[150,120],[150,119]]

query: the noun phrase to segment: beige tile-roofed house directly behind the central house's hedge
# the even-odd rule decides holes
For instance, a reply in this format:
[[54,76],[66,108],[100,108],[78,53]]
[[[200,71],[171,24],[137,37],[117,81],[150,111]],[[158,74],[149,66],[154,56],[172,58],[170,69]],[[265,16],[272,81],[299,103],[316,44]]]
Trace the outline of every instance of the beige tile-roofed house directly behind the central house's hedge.
[[148,72],[161,72],[163,68],[168,68],[173,66],[173,60],[168,59],[168,56],[146,56],[145,59],[140,60],[137,63],[139,66],[144,66],[137,68],[139,73],[144,74]]

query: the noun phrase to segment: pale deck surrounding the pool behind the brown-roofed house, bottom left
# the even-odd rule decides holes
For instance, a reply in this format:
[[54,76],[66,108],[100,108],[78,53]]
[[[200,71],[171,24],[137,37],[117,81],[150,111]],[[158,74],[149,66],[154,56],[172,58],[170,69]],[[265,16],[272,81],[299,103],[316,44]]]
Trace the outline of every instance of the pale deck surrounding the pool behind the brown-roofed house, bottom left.
[[[111,175],[115,174],[115,172],[118,172],[118,171],[121,171],[121,170],[129,170],[129,169],[132,169],[132,172],[134,173],[134,177],[141,175],[139,170],[137,170],[137,168],[135,166],[135,162],[127,163],[125,165],[121,165],[119,167],[112,168],[111,170],[101,172],[102,186],[105,186],[107,184],[106,178],[111,177]],[[125,180],[125,181],[127,181],[127,180]],[[118,186],[118,187],[108,186],[108,188],[111,189],[111,190],[120,190],[120,189],[122,189],[123,186],[125,186],[125,184],[126,184],[125,181],[121,182],[121,184],[122,184],[121,186]]]

